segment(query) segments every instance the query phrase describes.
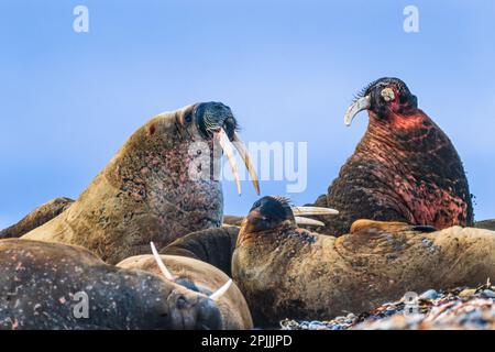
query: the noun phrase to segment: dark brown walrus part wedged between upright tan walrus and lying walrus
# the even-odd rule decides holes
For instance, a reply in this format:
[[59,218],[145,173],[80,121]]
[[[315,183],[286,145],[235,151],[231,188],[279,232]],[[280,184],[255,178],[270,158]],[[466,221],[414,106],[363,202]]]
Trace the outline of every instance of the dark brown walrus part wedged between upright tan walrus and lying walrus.
[[238,234],[239,228],[230,226],[193,232],[164,248],[161,254],[199,260],[231,276],[232,253]]

